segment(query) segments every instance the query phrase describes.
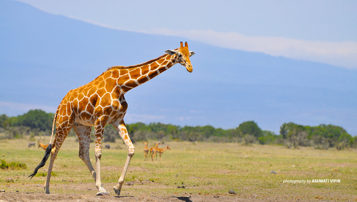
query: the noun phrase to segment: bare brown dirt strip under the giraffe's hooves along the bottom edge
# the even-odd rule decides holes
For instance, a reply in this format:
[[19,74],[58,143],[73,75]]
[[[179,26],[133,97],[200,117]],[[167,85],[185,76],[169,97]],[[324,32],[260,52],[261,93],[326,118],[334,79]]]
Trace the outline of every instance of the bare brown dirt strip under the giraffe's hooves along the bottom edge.
[[[277,192],[276,195],[261,195],[248,193],[249,191],[235,190],[236,194],[215,193],[215,188],[210,186],[207,189],[212,190],[212,193],[196,192],[193,187],[177,188],[177,192],[174,194],[162,193],[157,190],[163,190],[167,188],[174,189],[176,187],[156,184],[150,181],[134,181],[133,185],[123,185],[121,196],[116,196],[112,190],[112,186],[115,183],[104,184],[107,191],[110,192],[110,196],[96,196],[96,188],[94,183],[68,183],[68,184],[51,184],[50,194],[46,194],[43,191],[42,184],[16,184],[12,183],[10,186],[5,186],[5,192],[0,192],[0,202],[233,202],[233,201],[297,201],[297,200],[314,200],[324,201],[332,200],[329,198],[309,198],[308,196],[290,196],[280,195],[276,190],[271,192]],[[0,186],[2,190],[3,186]],[[21,191],[22,190],[22,191]],[[183,191],[178,193],[179,191]],[[247,190],[247,189],[245,189]],[[59,193],[64,192],[64,193]],[[79,193],[80,192],[80,193]],[[271,193],[270,192],[270,193]],[[315,194],[319,196],[318,193]],[[322,197],[322,196],[321,196]],[[336,198],[335,198],[336,199]]]

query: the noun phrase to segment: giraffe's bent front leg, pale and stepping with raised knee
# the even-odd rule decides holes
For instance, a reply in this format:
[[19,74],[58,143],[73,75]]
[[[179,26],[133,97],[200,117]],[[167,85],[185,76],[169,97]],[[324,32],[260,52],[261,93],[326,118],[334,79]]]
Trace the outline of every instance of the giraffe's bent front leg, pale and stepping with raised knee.
[[125,127],[125,124],[124,122],[122,122],[119,126],[114,126],[117,131],[119,132],[120,134],[120,137],[121,139],[124,141],[127,149],[128,149],[128,156],[126,157],[126,161],[125,161],[125,164],[124,164],[124,168],[123,168],[123,172],[121,173],[120,175],[120,178],[118,180],[118,184],[116,186],[114,186],[114,191],[115,193],[120,196],[120,191],[121,191],[121,187],[124,183],[124,178],[125,178],[125,175],[126,175],[126,171],[128,170],[128,167],[129,167],[129,164],[130,164],[130,160],[132,158],[132,156],[134,155],[134,145],[133,143],[131,142],[130,138],[129,138],[129,134],[126,130],[126,127]]

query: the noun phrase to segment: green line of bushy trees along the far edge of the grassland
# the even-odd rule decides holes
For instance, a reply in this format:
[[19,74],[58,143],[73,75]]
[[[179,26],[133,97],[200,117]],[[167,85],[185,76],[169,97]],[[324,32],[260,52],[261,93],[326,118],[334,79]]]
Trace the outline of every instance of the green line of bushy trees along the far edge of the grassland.
[[[1,138],[21,138],[24,135],[51,135],[54,114],[42,110],[30,110],[24,115],[8,117],[0,115]],[[126,124],[132,142],[158,141],[206,141],[206,142],[238,142],[242,144],[278,144],[288,148],[315,147],[356,148],[357,137],[352,137],[340,126],[320,124],[319,126],[303,126],[296,123],[283,123],[280,134],[263,131],[256,122],[246,121],[232,129],[212,126],[175,126],[163,123]],[[92,135],[94,129],[92,129]],[[75,135],[73,129],[69,135]],[[116,129],[106,126],[104,142],[114,142],[120,138]]]

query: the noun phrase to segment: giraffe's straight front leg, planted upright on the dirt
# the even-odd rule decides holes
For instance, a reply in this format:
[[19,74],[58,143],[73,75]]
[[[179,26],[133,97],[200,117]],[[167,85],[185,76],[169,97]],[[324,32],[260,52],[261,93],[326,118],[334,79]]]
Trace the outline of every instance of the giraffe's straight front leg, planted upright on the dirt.
[[102,138],[104,132],[104,124],[98,123],[95,125],[94,128],[95,128],[95,162],[96,162],[95,186],[98,189],[96,195],[108,196],[109,193],[102,186],[102,182],[100,179],[100,159],[102,157]]

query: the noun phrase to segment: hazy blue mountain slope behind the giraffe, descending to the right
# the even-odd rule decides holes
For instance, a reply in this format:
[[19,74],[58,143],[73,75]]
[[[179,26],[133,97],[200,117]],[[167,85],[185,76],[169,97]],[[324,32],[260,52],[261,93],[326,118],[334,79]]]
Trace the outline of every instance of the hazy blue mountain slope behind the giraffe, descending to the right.
[[[125,19],[123,19],[125,20]],[[185,38],[112,30],[0,1],[0,114],[38,106],[54,112],[65,94],[113,65],[134,65]],[[342,126],[357,134],[357,71],[188,41],[193,72],[175,65],[126,94],[126,122],[233,128],[254,120]]]

